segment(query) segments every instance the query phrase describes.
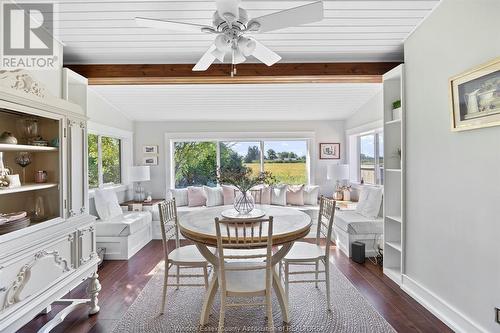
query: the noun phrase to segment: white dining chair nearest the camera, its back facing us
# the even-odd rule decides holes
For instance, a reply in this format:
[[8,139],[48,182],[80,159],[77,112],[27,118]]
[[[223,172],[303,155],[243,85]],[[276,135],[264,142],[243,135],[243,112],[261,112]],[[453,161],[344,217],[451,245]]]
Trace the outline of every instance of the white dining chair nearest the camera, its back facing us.
[[[272,332],[274,330],[271,300],[273,217],[252,220],[215,218],[215,227],[221,298],[218,332],[224,331],[226,308],[238,306],[265,306],[268,330]],[[252,251],[264,247],[266,248],[264,254]],[[229,297],[256,296],[265,297],[265,301],[228,302]]]

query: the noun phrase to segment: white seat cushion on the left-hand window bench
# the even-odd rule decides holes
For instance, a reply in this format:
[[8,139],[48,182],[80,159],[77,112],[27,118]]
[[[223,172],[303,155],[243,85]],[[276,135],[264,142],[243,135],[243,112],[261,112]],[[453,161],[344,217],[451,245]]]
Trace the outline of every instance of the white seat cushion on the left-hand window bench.
[[95,224],[98,237],[121,237],[132,235],[151,225],[150,212],[127,212]]

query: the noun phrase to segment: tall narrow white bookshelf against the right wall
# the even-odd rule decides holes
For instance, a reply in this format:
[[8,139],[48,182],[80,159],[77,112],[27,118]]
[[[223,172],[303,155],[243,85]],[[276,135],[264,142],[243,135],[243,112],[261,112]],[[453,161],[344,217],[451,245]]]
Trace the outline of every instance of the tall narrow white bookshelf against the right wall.
[[[404,65],[387,72],[384,86],[384,274],[401,284],[404,272],[405,107]],[[401,119],[393,119],[392,103],[401,100]],[[401,149],[401,158],[397,154]]]

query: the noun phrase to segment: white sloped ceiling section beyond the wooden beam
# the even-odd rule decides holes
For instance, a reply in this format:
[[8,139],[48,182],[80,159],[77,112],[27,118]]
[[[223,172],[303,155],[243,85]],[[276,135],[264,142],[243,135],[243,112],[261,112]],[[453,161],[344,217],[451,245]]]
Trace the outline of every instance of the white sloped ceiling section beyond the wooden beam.
[[91,86],[136,121],[341,120],[381,84],[214,84]]

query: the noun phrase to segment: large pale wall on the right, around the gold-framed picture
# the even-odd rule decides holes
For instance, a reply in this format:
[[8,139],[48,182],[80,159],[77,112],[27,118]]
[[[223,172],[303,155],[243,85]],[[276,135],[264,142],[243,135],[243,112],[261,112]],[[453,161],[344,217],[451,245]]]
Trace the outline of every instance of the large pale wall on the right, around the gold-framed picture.
[[457,331],[500,331],[500,127],[451,132],[448,99],[451,76],[500,55],[499,13],[444,0],[405,43],[406,274]]

